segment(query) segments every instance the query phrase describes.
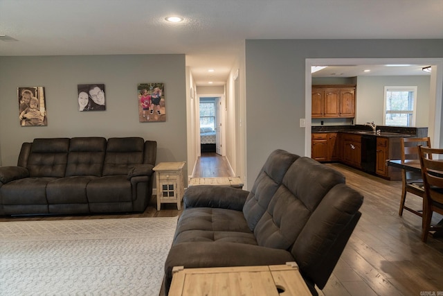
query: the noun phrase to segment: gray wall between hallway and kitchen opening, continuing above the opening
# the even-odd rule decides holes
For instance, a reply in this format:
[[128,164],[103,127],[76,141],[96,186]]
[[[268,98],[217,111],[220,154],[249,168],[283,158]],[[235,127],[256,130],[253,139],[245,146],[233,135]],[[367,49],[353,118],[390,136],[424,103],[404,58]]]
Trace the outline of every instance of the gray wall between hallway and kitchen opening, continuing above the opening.
[[246,40],[245,53],[250,189],[271,151],[305,154],[307,58],[442,58],[443,40]]

